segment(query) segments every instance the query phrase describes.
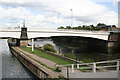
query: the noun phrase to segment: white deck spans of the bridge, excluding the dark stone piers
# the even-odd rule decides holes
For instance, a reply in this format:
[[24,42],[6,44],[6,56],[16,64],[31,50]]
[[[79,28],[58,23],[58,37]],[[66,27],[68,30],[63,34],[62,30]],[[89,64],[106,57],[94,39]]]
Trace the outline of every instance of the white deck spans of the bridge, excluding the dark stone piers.
[[[12,37],[20,38],[20,29],[0,29],[0,38]],[[57,30],[57,29],[28,29],[28,39],[37,37],[51,37],[51,36],[80,36],[90,37],[101,40],[108,40],[110,32],[108,31],[82,31],[82,30]]]

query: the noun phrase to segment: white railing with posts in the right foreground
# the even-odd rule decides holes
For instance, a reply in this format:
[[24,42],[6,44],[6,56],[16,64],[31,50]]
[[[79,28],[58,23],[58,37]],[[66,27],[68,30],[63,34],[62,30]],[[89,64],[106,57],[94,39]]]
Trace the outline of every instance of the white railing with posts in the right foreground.
[[[120,70],[120,59],[109,60],[109,61],[101,61],[94,63],[81,63],[81,64],[66,64],[66,65],[56,65],[56,67],[69,67],[71,68],[71,72],[74,70],[87,70],[91,69],[92,72],[96,73],[97,71],[110,71],[110,70]],[[110,69],[109,69],[110,68]]]

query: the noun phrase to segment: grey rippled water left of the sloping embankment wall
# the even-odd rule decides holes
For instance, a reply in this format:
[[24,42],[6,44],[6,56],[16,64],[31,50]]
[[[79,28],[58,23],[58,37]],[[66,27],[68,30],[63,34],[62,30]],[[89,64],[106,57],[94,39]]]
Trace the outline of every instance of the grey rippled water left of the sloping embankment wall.
[[7,40],[0,39],[0,54],[2,54],[2,77],[3,78],[35,78],[35,76],[26,69],[14,57],[7,45]]

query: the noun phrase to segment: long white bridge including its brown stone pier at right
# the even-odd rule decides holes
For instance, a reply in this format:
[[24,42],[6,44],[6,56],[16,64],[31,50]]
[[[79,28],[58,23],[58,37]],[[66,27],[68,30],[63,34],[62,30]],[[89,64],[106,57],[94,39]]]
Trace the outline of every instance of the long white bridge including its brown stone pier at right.
[[[18,38],[21,37],[21,29],[0,29],[0,38]],[[108,52],[120,52],[120,32],[119,31],[83,31],[83,30],[60,30],[60,29],[27,29],[26,38],[33,39],[39,37],[52,37],[52,36],[79,36],[86,38],[99,39],[107,42]],[[22,35],[25,35],[24,31]],[[32,40],[33,41],[33,40]],[[27,41],[23,44],[26,43]]]

